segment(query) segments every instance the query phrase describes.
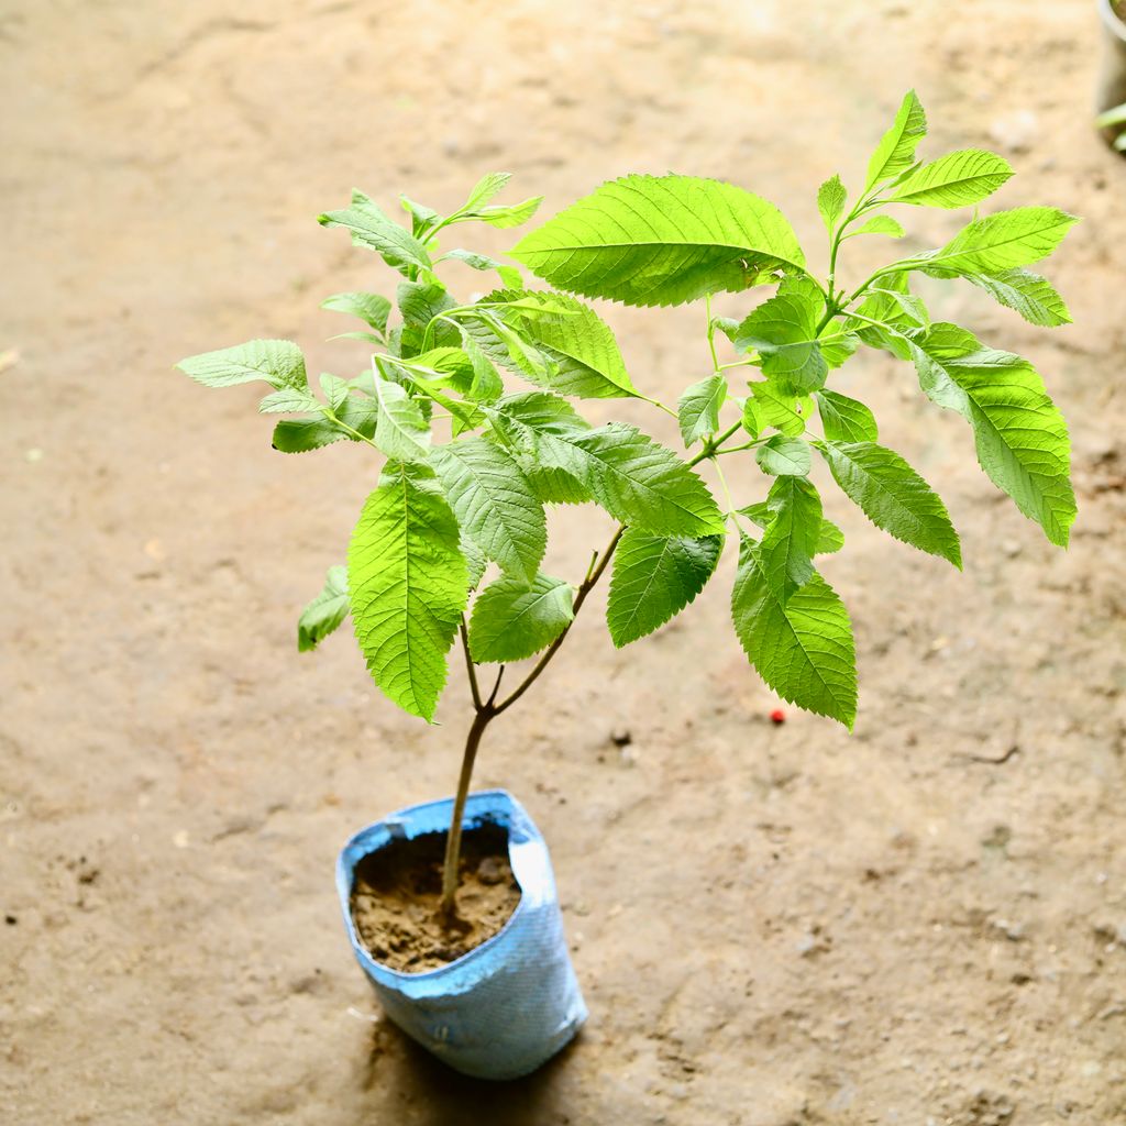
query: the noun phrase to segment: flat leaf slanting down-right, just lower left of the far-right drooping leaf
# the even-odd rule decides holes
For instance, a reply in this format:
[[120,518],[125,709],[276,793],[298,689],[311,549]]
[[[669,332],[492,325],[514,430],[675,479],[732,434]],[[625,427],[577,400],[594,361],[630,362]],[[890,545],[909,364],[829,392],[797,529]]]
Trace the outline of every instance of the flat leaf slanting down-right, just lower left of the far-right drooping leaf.
[[817,447],[841,486],[877,528],[962,568],[958,534],[938,493],[894,450],[874,441]]

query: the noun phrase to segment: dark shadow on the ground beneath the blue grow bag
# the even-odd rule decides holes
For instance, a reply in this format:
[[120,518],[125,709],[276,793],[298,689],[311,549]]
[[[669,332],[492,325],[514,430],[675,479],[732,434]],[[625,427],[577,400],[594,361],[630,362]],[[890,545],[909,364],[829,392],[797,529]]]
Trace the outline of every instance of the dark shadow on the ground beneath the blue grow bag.
[[580,1031],[562,1052],[522,1079],[473,1079],[448,1067],[384,1020],[373,1033],[364,1085],[392,1106],[410,1107],[401,1120],[411,1126],[566,1123],[566,1084],[560,1079],[581,1043]]

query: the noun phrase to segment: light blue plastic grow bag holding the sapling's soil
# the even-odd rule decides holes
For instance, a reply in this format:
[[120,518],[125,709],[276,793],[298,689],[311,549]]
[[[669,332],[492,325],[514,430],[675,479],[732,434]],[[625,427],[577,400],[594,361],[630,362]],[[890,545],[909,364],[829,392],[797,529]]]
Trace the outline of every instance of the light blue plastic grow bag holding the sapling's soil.
[[507,790],[471,794],[465,829],[493,822],[508,831],[520,902],[503,928],[438,969],[404,974],[375,962],[352,923],[349,900],[359,860],[395,838],[445,832],[453,798],[400,810],[360,830],[337,861],[337,891],[356,960],[399,1027],[457,1071],[516,1079],[560,1051],[587,1019],[571,966],[547,844]]

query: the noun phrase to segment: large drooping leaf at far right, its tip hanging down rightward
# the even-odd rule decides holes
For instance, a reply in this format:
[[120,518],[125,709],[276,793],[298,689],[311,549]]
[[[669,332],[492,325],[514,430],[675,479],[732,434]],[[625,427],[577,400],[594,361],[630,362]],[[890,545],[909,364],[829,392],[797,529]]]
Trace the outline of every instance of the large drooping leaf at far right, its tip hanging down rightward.
[[1066,546],[1075,519],[1067,426],[1036,368],[954,324],[936,324],[917,349],[923,388],[969,420],[989,479],[1053,544]]

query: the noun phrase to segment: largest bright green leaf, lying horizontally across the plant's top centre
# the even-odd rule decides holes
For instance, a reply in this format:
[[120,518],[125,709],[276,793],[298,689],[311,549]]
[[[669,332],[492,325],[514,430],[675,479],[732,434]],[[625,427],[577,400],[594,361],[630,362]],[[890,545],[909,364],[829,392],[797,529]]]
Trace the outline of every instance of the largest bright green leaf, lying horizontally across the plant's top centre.
[[805,257],[759,196],[691,176],[611,180],[526,235],[511,256],[558,289],[676,305],[748,288]]

